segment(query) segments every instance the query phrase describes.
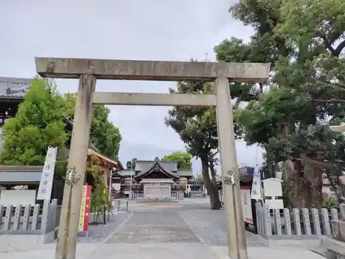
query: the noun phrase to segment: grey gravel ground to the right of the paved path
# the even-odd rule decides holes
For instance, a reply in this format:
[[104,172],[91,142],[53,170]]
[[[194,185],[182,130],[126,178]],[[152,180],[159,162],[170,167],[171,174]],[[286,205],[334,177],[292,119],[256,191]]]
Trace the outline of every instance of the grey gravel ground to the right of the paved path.
[[[201,204],[198,204],[199,207]],[[196,207],[196,206],[193,206]],[[209,245],[226,246],[226,223],[224,211],[213,211],[209,209],[209,204],[204,205],[204,209],[184,209],[179,210],[179,214],[187,222],[200,240]],[[262,238],[246,231],[248,247],[265,247]]]

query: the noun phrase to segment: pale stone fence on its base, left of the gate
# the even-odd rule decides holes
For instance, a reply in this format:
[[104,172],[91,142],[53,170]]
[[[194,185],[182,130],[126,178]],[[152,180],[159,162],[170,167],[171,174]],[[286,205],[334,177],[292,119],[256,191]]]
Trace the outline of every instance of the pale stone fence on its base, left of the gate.
[[0,204],[0,243],[46,244],[54,240],[59,225],[61,207],[57,200],[46,200],[43,206]]

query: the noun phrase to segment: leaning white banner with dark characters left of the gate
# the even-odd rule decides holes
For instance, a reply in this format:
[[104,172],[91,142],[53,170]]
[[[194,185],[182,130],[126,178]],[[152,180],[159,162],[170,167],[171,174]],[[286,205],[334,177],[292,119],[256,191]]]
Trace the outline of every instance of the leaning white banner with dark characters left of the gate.
[[39,191],[37,193],[37,200],[50,200],[52,195],[52,180],[54,179],[55,162],[57,159],[57,148],[48,147],[46,161],[41,175],[41,182],[39,182]]

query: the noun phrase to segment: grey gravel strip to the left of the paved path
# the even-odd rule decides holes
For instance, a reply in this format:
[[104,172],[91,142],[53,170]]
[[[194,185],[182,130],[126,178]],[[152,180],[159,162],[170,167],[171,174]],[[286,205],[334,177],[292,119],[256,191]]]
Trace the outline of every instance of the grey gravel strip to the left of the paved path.
[[114,232],[122,222],[130,217],[130,213],[120,212],[117,215],[110,215],[107,224],[91,224],[89,225],[88,236],[79,236],[79,243],[99,243],[103,242],[108,236]]

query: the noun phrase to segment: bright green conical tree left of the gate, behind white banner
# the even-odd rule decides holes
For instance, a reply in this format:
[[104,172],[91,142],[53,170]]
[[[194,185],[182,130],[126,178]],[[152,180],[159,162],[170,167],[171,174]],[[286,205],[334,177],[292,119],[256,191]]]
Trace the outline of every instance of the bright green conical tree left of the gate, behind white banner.
[[66,172],[61,153],[67,140],[63,99],[46,79],[32,79],[16,117],[3,126],[1,164],[43,165],[48,146],[57,146],[57,175]]

